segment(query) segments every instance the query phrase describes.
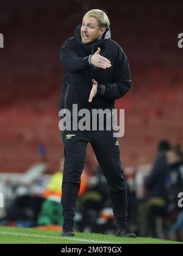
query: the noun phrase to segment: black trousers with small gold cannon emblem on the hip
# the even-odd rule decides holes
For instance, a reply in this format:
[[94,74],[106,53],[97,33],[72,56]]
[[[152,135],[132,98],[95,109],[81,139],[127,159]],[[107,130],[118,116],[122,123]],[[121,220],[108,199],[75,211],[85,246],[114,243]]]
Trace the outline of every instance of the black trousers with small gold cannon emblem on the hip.
[[127,222],[126,180],[120,162],[120,149],[113,131],[68,131],[62,132],[64,143],[64,168],[62,181],[62,214],[64,221],[72,220],[85,164],[87,143],[91,143],[98,164],[109,184],[113,213],[118,225]]

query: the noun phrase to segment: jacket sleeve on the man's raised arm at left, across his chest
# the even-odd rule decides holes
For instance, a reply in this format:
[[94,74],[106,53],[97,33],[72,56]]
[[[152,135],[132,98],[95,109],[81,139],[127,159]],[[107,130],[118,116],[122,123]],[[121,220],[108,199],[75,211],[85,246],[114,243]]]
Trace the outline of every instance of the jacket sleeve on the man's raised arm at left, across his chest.
[[62,63],[63,69],[70,73],[77,73],[81,70],[88,69],[90,67],[88,57],[78,57],[70,40],[63,43],[60,49],[60,62]]

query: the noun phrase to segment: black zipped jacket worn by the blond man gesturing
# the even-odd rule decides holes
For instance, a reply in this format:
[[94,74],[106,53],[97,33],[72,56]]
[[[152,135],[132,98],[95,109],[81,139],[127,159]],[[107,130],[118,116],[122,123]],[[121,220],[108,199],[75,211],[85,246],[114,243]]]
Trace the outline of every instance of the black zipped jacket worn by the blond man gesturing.
[[[121,98],[131,88],[129,62],[120,45],[110,39],[110,29],[101,40],[84,44],[81,42],[81,25],[77,26],[74,37],[66,40],[60,50],[63,66],[63,87],[60,110],[70,111],[73,104],[78,110],[87,108],[114,108],[115,99]],[[88,56],[101,48],[101,55],[110,60],[109,69],[96,68],[88,63]],[[92,102],[88,102],[92,79],[98,82],[98,91]]]

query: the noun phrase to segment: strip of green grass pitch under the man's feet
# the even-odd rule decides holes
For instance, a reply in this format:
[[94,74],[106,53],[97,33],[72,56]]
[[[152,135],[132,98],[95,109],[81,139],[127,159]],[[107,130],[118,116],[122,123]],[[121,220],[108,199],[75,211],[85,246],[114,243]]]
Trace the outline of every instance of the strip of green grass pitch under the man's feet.
[[[62,237],[60,232],[34,228],[0,227],[0,244],[179,244],[153,238],[117,238],[111,235],[76,233]],[[183,244],[183,243],[182,243]]]

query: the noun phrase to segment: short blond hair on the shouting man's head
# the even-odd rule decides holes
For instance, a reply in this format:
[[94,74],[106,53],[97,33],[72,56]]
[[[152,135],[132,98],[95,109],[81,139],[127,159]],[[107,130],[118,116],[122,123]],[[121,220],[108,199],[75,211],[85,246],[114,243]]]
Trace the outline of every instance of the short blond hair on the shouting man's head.
[[106,12],[99,9],[93,9],[89,10],[87,13],[85,13],[83,18],[90,18],[94,17],[96,20],[98,20],[99,28],[108,28],[110,26],[109,18],[107,17]]

